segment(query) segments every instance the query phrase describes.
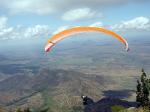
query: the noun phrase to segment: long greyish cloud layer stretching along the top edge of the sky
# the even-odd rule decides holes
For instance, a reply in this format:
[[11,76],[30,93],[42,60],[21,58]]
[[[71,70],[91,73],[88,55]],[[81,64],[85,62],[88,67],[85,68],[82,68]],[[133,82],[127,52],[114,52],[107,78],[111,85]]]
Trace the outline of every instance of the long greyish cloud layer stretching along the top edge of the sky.
[[67,10],[81,7],[89,7],[95,10],[122,6],[133,2],[143,3],[149,2],[149,0],[0,0],[0,7],[10,14],[49,15],[55,12],[64,13]]

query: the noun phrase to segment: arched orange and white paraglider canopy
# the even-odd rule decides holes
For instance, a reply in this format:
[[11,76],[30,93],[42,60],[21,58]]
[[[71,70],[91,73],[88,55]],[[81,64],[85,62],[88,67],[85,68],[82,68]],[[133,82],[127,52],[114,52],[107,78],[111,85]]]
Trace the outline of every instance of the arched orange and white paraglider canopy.
[[101,27],[90,27],[90,26],[81,26],[81,27],[73,27],[70,29],[66,29],[62,32],[59,32],[55,35],[53,35],[49,40],[48,43],[45,46],[45,52],[49,52],[51,50],[51,48],[59,41],[61,41],[62,39],[69,37],[70,35],[74,35],[76,33],[83,33],[83,32],[100,32],[100,33],[104,33],[107,35],[110,35],[116,39],[118,39],[121,43],[123,43],[125,45],[125,49],[126,51],[129,51],[128,48],[128,43],[127,41],[121,37],[120,35],[116,34],[115,32],[105,29],[105,28],[101,28]]

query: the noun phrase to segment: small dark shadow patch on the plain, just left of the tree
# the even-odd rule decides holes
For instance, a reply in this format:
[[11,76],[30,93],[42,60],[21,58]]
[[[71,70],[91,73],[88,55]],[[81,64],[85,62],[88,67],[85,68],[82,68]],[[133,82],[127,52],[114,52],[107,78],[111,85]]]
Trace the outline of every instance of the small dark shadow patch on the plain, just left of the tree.
[[133,90],[108,90],[103,91],[105,97],[124,99],[132,95]]

